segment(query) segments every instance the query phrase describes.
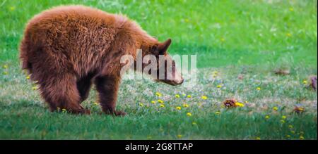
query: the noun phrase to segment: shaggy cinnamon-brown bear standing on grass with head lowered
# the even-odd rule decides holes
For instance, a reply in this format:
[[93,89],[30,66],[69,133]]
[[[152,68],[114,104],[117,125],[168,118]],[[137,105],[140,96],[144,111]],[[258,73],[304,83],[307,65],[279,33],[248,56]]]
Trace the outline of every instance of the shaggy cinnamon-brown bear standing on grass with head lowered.
[[[120,70],[124,66],[121,57],[131,55],[136,60],[136,50],[140,49],[143,57],[151,54],[171,60],[167,53],[171,42],[151,37],[125,15],[73,5],[49,8],[35,15],[25,27],[19,51],[21,68],[38,85],[52,112],[60,108],[69,113],[90,114],[81,103],[95,84],[102,112],[120,116],[126,115],[116,110]],[[182,84],[175,62],[172,70],[172,79],[167,75],[153,79]]]

